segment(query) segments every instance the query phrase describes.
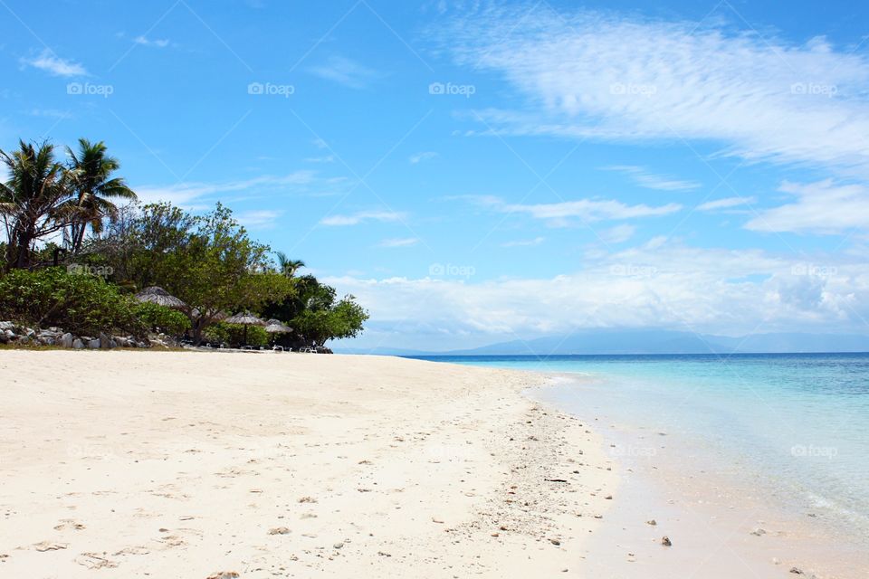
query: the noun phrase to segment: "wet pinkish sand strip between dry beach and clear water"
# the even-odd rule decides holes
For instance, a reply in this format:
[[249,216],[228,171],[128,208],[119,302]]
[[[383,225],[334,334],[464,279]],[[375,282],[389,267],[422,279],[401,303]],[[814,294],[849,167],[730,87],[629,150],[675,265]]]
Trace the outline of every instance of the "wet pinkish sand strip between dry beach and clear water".
[[[559,388],[570,386],[565,381],[581,384],[586,376],[553,376],[556,383],[536,389],[536,399],[563,412]],[[698,460],[692,456],[696,447],[664,436],[670,434],[662,432],[666,424],[627,425],[610,419],[601,414],[606,427],[601,424],[597,432],[621,463],[623,500],[590,541],[597,562],[584,567],[588,573],[664,578],[673,576],[675,566],[722,579],[748,572],[755,577],[869,576],[869,557],[859,539],[824,517],[798,517],[783,504],[786,497],[733,479],[717,470],[716,460]],[[656,525],[648,525],[649,520]],[[672,538],[672,550],[657,548],[662,533]]]

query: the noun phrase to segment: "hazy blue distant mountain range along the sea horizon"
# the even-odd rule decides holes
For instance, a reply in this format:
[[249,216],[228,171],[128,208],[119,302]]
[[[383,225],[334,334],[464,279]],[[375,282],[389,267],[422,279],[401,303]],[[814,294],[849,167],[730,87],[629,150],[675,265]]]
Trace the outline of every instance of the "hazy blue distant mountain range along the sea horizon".
[[869,336],[777,333],[747,337],[698,335],[655,329],[583,329],[568,336],[512,340],[473,349],[421,352],[378,347],[342,349],[345,353],[392,356],[547,356],[552,354],[776,354],[869,352]]

